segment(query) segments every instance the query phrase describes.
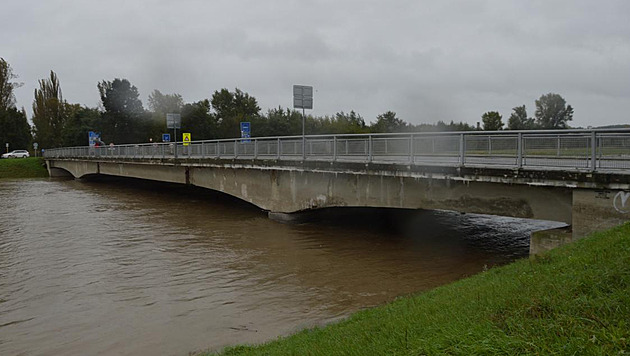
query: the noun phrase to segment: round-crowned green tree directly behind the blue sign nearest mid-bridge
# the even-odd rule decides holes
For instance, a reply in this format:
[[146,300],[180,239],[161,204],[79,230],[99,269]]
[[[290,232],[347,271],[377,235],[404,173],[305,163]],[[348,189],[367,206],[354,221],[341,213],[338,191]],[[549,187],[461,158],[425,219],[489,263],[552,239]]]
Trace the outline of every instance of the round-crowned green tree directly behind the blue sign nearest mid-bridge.
[[260,115],[260,107],[256,98],[242,92],[238,88],[234,92],[227,89],[215,91],[210,100],[219,124],[219,135],[222,138],[240,137],[240,122],[252,121]]

